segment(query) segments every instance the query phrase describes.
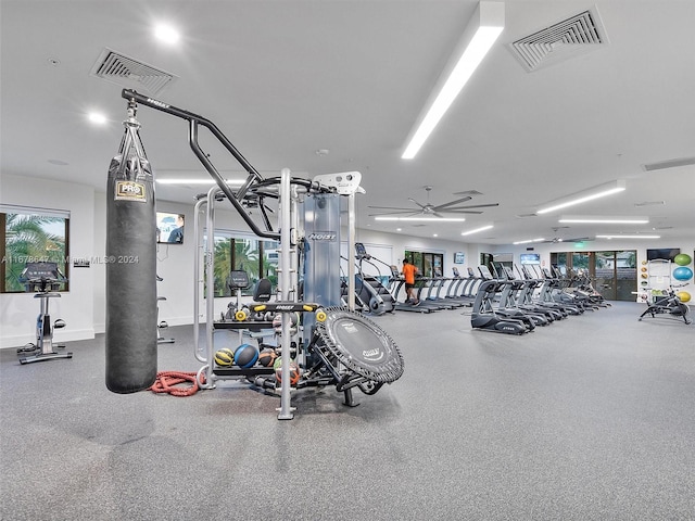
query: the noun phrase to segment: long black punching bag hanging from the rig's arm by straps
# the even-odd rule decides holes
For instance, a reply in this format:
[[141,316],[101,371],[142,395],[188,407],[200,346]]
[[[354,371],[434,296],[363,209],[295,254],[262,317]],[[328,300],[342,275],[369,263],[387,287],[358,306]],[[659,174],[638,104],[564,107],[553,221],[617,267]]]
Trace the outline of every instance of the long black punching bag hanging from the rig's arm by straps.
[[156,379],[156,214],[150,163],[128,106],[106,187],[106,387],[119,394]]

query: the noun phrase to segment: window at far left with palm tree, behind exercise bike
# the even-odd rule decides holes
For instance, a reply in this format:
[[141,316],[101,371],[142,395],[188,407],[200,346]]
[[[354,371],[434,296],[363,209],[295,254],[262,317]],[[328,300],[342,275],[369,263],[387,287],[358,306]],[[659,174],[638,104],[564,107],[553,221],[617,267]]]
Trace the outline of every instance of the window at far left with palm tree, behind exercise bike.
[[[20,293],[26,263],[56,263],[70,279],[70,212],[0,206],[0,292]],[[61,291],[67,291],[67,283]]]

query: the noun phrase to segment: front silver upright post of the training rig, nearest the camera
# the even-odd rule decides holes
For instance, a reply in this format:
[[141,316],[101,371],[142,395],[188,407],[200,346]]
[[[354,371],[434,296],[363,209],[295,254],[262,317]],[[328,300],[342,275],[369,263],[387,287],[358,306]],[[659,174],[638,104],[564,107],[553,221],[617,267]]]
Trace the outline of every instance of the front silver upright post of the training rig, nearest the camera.
[[[290,169],[280,170],[280,300],[289,301],[291,278],[291,191]],[[290,315],[282,313],[282,335],[280,357],[282,358],[282,389],[280,391],[280,410],[278,420],[291,420],[294,418],[290,404]]]

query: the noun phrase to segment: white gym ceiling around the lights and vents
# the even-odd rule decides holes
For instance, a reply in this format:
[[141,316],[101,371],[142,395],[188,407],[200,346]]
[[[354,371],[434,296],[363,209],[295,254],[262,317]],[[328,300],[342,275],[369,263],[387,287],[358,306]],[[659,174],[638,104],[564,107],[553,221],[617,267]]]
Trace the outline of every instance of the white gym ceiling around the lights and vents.
[[[90,75],[104,48],[177,76],[155,98],[214,122],[264,176],[359,170],[357,226],[393,231],[368,208],[442,204],[478,190],[498,202],[464,224],[399,226],[410,236],[507,244],[535,237],[647,233],[688,238],[695,166],[642,165],[695,156],[695,1],[510,0],[505,30],[415,160],[405,139],[476,1],[1,2],[1,171],[105,190],[123,135],[122,86]],[[509,51],[521,37],[596,8],[609,43],[528,73]],[[157,21],[177,47],[155,41]],[[60,63],[53,64],[51,61]],[[147,92],[143,92],[147,93]],[[90,110],[110,123],[86,122]],[[141,137],[160,178],[203,168],[185,120],[148,107]],[[211,145],[212,147],[212,145]],[[317,155],[327,149],[327,155]],[[240,171],[212,147],[225,171]],[[59,163],[59,164],[56,164]],[[568,214],[646,215],[648,225],[569,225],[540,205],[614,179],[627,190]],[[191,203],[201,187],[157,186]],[[664,204],[636,207],[636,203]],[[11,203],[11,201],[0,201]],[[566,225],[565,225],[566,226]],[[559,228],[559,229],[558,229]]]

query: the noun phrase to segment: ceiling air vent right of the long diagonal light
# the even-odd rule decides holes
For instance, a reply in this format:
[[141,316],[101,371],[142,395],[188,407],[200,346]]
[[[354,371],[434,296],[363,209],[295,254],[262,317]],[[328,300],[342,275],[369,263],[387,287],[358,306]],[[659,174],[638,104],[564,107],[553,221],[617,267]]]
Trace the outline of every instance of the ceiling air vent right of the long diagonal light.
[[509,50],[531,73],[606,43],[608,37],[594,7],[510,43]]

